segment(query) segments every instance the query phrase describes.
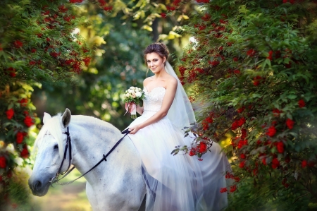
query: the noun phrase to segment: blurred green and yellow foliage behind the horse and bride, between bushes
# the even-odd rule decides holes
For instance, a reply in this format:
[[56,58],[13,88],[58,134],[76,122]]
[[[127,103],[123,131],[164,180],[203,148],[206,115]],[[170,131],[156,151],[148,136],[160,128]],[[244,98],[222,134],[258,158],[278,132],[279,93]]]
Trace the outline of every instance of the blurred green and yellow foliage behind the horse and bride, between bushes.
[[178,25],[187,20],[181,13],[178,20],[161,18],[159,13],[166,10],[164,1],[152,4],[113,1],[111,14],[94,3],[84,2],[77,10],[77,16],[87,17],[79,29],[87,46],[93,49],[91,64],[77,77],[75,84],[42,83],[35,88],[32,102],[39,116],[43,116],[44,111],[56,114],[68,107],[73,114],[97,116],[123,129],[131,119],[123,116],[125,110],[120,95],[131,85],[142,88],[144,78],[151,76],[151,73],[147,75],[143,50],[161,36],[169,43],[170,52],[180,52],[188,43],[188,37],[181,38],[173,29],[177,30]]

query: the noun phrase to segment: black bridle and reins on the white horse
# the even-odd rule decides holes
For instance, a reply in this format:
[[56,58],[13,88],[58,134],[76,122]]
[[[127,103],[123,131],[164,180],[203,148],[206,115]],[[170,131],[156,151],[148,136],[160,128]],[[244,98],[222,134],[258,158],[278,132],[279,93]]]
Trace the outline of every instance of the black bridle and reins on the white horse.
[[[108,157],[108,155],[110,155],[110,153],[113,150],[116,149],[116,147],[120,144],[121,140],[123,140],[123,138],[125,138],[125,135],[128,135],[130,133],[130,131],[128,131],[128,129],[126,129],[125,131],[122,131],[121,133],[125,134],[125,135],[123,135],[123,137],[120,138],[120,140],[117,141],[117,143],[111,148],[111,150],[106,155],[103,155],[103,158],[97,164],[95,164],[94,167],[92,167],[91,169],[86,171],[85,174],[82,174],[81,176],[77,177],[77,179],[74,179],[72,181],[68,181],[66,183],[59,183],[58,181],[60,181],[61,179],[65,178],[71,171],[73,171],[73,169],[75,169],[75,167],[69,169],[70,168],[70,164],[71,164],[71,160],[72,160],[72,144],[71,144],[71,139],[70,139],[69,128],[67,127],[67,132],[63,132],[63,133],[67,135],[66,146],[65,146],[65,151],[64,151],[64,157],[62,159],[61,166],[59,167],[58,171],[56,172],[56,175],[51,179],[51,181],[49,181],[51,183],[51,186],[53,186],[54,183],[56,183],[58,185],[61,185],[61,186],[73,183],[77,179],[80,179],[80,178],[82,178],[82,176],[85,176],[86,174],[88,174],[89,171],[92,171],[92,169],[96,168],[99,164],[101,164],[101,162],[107,161],[106,157]],[[63,167],[64,160],[66,159],[66,156],[67,156],[67,150],[68,150],[68,155],[69,155],[68,168],[67,168],[66,171],[61,173],[61,168]],[[65,174],[65,175],[63,175],[63,174]],[[61,177],[61,179],[58,179],[58,176],[60,176],[60,175],[63,175],[63,177]]]

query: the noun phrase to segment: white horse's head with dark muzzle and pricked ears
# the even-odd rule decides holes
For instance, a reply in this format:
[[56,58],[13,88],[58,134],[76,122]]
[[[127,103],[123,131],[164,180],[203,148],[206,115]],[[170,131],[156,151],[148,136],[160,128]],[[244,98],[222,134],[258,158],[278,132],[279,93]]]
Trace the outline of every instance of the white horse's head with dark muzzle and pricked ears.
[[[63,115],[51,115],[44,113],[41,131],[35,140],[34,148],[37,149],[37,158],[29,179],[29,186],[34,195],[42,196],[47,193],[51,179],[56,176],[63,159],[63,149],[67,135],[63,134],[70,123],[71,113],[66,109]],[[68,157],[61,171],[66,171]]]

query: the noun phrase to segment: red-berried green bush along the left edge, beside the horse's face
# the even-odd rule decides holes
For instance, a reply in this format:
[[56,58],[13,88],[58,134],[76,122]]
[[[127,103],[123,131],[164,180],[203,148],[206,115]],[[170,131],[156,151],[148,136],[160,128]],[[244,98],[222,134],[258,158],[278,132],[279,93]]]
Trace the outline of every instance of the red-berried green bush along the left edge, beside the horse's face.
[[25,192],[12,191],[25,184],[11,178],[18,159],[30,163],[28,131],[39,123],[32,85],[72,82],[89,65],[89,50],[74,32],[84,19],[74,8],[66,1],[0,3],[0,198],[8,206]]

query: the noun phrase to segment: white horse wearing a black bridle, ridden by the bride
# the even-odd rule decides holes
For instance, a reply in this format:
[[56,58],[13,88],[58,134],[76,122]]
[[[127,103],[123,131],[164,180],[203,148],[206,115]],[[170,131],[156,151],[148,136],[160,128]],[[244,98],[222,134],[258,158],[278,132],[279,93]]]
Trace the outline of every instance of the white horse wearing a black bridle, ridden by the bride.
[[[91,116],[71,116],[69,109],[54,117],[45,113],[43,122],[35,141],[37,158],[29,179],[32,193],[38,196],[47,193],[61,165],[67,137],[63,132],[67,127],[72,143],[70,162],[82,174],[97,164],[123,136],[110,123]],[[68,163],[69,156],[61,172],[66,171]],[[86,174],[85,179],[87,198],[94,211],[139,210],[146,193],[141,159],[128,137],[111,152],[106,162]],[[67,181],[67,177],[64,180]]]

